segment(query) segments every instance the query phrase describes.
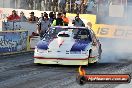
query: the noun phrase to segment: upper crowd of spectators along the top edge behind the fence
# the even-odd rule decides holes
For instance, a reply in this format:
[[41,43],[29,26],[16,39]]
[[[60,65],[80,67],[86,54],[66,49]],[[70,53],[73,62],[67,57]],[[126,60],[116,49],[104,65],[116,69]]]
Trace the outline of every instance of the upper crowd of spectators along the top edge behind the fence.
[[[87,13],[90,6],[94,13],[97,11],[96,2],[98,0],[20,0],[18,9],[30,9],[41,11],[60,12],[64,10],[69,13]],[[91,6],[92,5],[92,6]]]

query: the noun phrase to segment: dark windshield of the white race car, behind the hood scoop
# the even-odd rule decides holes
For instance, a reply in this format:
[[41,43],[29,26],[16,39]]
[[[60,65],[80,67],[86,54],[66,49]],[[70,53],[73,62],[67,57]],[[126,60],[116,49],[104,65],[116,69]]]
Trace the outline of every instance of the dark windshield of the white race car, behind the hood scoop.
[[[73,33],[73,38],[74,39],[81,39],[82,37],[85,39],[89,39],[91,40],[91,36],[90,36],[90,32],[89,30],[86,29],[82,29],[82,28],[50,28],[49,31],[44,35],[44,40],[50,41],[54,38],[57,38],[57,35],[59,32],[62,31],[70,31]],[[68,34],[59,34],[59,37],[70,37],[70,35]]]

